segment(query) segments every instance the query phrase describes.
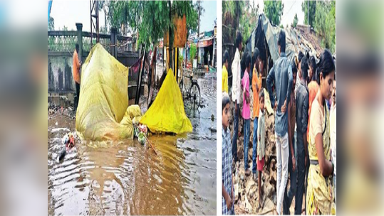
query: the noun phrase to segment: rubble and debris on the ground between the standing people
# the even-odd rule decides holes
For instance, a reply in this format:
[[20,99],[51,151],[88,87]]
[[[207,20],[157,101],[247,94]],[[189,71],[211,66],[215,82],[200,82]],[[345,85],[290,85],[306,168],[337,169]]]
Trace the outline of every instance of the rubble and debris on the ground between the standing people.
[[[252,94],[251,94],[252,95]],[[251,97],[251,101],[252,101]],[[251,102],[252,104],[252,102]],[[229,129],[231,137],[233,137],[234,130],[234,103],[231,104],[232,118],[230,119]],[[242,104],[239,105],[239,110],[242,110]],[[262,173],[261,188],[263,194],[261,195],[262,206],[259,207],[259,190],[257,179],[254,180],[252,175],[246,176],[244,173],[244,119],[239,117],[239,138],[237,139],[237,157],[239,161],[232,166],[234,175],[234,203],[235,212],[237,215],[244,214],[268,214],[273,213],[276,207],[276,138],[274,135],[274,114],[266,112],[266,151],[265,151],[265,164]],[[252,151],[253,151],[253,129],[254,122],[251,119],[250,136],[249,136],[249,151],[248,151],[248,167],[252,168]]]

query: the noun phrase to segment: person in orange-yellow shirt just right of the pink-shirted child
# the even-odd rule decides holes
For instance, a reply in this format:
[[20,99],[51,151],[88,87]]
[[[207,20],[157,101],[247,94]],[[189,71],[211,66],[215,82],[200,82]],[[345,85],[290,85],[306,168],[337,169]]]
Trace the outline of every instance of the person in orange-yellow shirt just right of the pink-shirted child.
[[259,91],[261,90],[261,74],[259,69],[259,63],[260,63],[260,52],[258,48],[255,48],[254,55],[252,56],[252,62],[254,63],[254,72],[252,75],[252,91],[254,93],[254,103],[253,103],[253,118],[254,118],[254,140],[252,142],[252,173],[254,180],[257,178],[257,172],[256,172],[256,156],[257,156],[257,124],[259,120]]

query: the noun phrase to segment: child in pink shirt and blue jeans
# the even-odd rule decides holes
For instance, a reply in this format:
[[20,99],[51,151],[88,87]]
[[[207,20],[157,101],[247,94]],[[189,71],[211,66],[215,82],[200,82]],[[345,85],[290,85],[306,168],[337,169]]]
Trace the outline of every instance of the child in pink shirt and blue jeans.
[[246,69],[242,79],[242,90],[243,90],[243,111],[242,116],[244,119],[244,168],[245,175],[249,175],[251,172],[248,168],[248,146],[249,146],[249,133],[251,129],[251,107],[249,98],[249,70],[251,70],[251,55],[245,53],[245,65]]

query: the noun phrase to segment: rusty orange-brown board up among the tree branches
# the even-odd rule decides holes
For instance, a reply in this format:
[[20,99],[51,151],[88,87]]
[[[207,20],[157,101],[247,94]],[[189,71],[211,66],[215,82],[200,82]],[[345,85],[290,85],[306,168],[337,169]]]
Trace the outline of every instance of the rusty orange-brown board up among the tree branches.
[[[179,18],[175,16],[173,18],[173,24],[175,25],[175,31],[173,33],[173,47],[184,48],[185,43],[187,43],[187,18],[182,16]],[[169,46],[170,37],[168,35],[168,31],[165,31],[164,36],[164,45]]]

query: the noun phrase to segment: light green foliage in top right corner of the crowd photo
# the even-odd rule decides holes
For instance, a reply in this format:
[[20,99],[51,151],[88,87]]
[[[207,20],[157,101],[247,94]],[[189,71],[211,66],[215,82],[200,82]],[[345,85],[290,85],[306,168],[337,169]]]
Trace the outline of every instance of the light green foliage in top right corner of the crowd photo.
[[322,45],[333,53],[336,47],[336,5],[335,1],[317,1],[315,31],[323,37]]

